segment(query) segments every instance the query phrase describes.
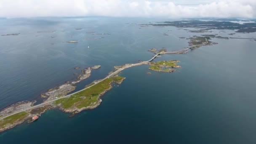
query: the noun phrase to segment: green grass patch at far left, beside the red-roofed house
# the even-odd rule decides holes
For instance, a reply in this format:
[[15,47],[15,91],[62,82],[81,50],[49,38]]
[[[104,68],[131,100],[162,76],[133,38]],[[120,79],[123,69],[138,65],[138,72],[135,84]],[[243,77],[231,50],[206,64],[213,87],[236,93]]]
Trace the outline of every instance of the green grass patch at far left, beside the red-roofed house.
[[0,127],[4,128],[5,125],[14,124],[18,121],[22,121],[27,118],[29,114],[27,112],[19,112],[17,114],[11,115],[9,117],[5,117],[3,120],[0,121]]

